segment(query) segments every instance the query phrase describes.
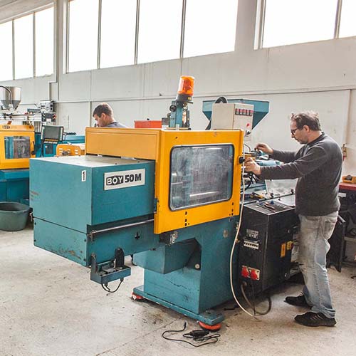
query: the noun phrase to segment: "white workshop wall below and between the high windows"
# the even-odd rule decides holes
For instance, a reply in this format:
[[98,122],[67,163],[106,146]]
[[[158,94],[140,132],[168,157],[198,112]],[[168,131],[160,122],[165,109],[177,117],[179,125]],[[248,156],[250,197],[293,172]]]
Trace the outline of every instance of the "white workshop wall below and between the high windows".
[[[220,95],[268,100],[270,112],[254,130],[252,143],[265,141],[293,150],[298,144],[290,139],[288,115],[292,111],[315,110],[320,113],[323,130],[340,145],[349,147],[344,172],[356,175],[356,37],[255,51],[256,2],[239,0],[233,53],[63,73],[66,0],[58,0],[56,73],[4,84],[23,88],[22,103],[26,107],[48,99],[51,93],[58,103],[59,123],[83,134],[85,126],[93,124],[90,112],[102,101],[110,103],[117,120],[129,127],[133,127],[134,120],[163,117],[177,93],[179,76],[193,75],[193,129],[206,127],[207,120],[201,112],[203,100]],[[56,83],[50,85],[50,81]]]

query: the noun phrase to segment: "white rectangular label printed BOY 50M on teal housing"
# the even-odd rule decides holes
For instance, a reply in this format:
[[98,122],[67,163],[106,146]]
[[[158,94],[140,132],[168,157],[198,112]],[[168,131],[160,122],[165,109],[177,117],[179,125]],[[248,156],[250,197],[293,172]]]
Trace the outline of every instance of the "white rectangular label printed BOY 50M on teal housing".
[[104,190],[145,185],[145,169],[110,172],[104,174]]

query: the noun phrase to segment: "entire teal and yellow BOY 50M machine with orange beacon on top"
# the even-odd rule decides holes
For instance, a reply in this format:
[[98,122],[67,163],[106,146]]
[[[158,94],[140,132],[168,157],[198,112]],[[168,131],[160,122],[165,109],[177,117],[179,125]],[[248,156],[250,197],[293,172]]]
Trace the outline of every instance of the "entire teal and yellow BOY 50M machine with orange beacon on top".
[[[183,78],[169,126],[187,126]],[[141,296],[207,325],[232,298],[242,130],[87,128],[85,155],[31,159],[34,244],[90,267],[108,286],[145,268]],[[99,156],[100,155],[100,156]],[[130,157],[130,158],[124,158]],[[53,206],[56,205],[56,209]]]

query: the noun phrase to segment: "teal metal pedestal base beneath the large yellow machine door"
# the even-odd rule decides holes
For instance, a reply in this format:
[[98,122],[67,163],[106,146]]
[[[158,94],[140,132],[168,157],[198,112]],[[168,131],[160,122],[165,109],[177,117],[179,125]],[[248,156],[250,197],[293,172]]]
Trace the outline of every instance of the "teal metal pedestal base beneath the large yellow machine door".
[[[229,256],[236,222],[237,218],[221,219],[179,229],[174,245],[135,255],[135,262],[145,268],[142,292],[135,293],[148,299],[154,296],[157,303],[194,314],[230,300]],[[192,251],[189,244],[193,241]],[[184,266],[179,266],[179,261],[184,261]]]

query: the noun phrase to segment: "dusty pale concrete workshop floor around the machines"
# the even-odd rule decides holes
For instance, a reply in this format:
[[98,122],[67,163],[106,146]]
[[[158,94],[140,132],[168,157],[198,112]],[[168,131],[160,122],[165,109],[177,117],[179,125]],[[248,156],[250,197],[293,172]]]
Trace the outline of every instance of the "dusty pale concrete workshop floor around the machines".
[[[89,270],[35,248],[33,231],[0,231],[0,355],[356,355],[356,268],[330,269],[337,310],[335,328],[306,328],[293,321],[305,313],[283,302],[300,285],[285,283],[273,294],[271,313],[253,320],[224,311],[221,338],[194,348],[164,340],[164,330],[197,328],[194,320],[149,302],[131,300],[142,284],[132,268],[115,294],[90,281]],[[113,283],[115,284],[115,283]],[[262,308],[262,305],[261,305]]]

